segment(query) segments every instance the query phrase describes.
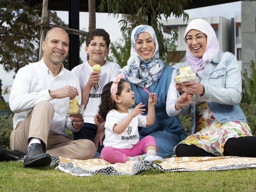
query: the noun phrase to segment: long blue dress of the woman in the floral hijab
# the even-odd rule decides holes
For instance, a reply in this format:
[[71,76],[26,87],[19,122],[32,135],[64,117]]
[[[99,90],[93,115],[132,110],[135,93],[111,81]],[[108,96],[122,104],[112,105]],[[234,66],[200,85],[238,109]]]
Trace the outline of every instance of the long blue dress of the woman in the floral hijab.
[[[147,135],[155,138],[158,147],[157,155],[162,158],[169,158],[174,154],[174,146],[187,137],[181,121],[178,116],[169,117],[166,113],[166,97],[168,88],[172,79],[173,67],[164,67],[163,75],[159,82],[154,82],[148,89],[150,93],[156,93],[158,101],[155,104],[155,123],[147,128],[139,127],[140,139]],[[129,82],[129,80],[126,81]],[[145,104],[146,111],[144,115],[148,114],[148,93],[143,88],[132,84],[130,86],[135,93],[135,107],[139,103]],[[175,93],[176,94],[176,93]]]

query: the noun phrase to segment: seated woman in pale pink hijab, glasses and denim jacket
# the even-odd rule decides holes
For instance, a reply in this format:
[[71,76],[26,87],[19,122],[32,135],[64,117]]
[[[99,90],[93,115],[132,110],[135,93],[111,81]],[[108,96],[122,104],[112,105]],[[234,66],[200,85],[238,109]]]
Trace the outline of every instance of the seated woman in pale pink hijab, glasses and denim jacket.
[[191,135],[176,146],[176,156],[256,157],[256,137],[239,107],[241,71],[234,54],[219,50],[213,28],[202,19],[188,24],[184,40],[184,66],[191,66],[198,77],[195,82],[176,84],[176,88],[181,94],[193,95],[197,103],[176,109],[192,117]]

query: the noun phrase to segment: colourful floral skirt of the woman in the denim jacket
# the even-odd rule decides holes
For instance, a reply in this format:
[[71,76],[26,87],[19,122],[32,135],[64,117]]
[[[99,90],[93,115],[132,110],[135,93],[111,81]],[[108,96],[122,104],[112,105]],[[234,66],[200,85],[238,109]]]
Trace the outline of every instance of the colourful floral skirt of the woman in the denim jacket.
[[252,136],[250,127],[245,122],[220,123],[213,117],[206,102],[196,106],[195,132],[179,144],[196,145],[214,155],[223,155],[224,144],[229,138]]

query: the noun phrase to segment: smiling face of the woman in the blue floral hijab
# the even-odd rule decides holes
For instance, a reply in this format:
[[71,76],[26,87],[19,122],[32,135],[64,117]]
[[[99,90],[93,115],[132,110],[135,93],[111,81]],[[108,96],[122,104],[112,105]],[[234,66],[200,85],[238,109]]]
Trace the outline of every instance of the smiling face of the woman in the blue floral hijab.
[[150,60],[155,52],[155,43],[147,32],[138,35],[135,47],[139,56],[145,61]]

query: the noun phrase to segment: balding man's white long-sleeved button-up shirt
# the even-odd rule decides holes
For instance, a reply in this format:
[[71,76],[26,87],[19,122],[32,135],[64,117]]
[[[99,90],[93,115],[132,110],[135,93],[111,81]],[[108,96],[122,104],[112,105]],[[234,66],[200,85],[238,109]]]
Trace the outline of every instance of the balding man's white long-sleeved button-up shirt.
[[55,77],[46,66],[43,58],[39,62],[30,63],[19,69],[13,81],[9,99],[9,106],[15,113],[13,117],[14,129],[16,129],[19,121],[23,121],[28,116],[37,103],[46,100],[54,107],[54,117],[50,124],[50,130],[65,134],[64,129],[67,127],[67,129],[77,132],[78,130],[73,128],[71,122],[67,122],[70,118],[66,115],[65,105],[69,98],[52,99],[49,94],[49,89],[53,91],[67,85],[77,88],[79,93],[77,100],[80,103],[81,89],[78,78],[71,71],[65,69],[63,65],[60,73]]

